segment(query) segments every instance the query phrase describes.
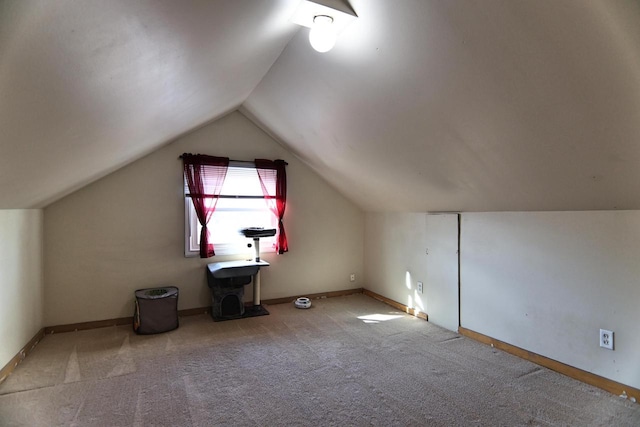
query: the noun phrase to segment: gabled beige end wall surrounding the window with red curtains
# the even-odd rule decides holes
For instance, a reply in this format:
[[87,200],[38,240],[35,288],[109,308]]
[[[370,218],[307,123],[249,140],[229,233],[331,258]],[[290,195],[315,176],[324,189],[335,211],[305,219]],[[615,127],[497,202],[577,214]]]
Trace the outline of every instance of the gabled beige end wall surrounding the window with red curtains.
[[183,152],[289,163],[290,252],[263,254],[262,299],[362,286],[363,212],[236,112],[45,208],[47,326],[131,316],[134,290],[160,285],[210,305],[206,264],[238,257],[184,257]]

